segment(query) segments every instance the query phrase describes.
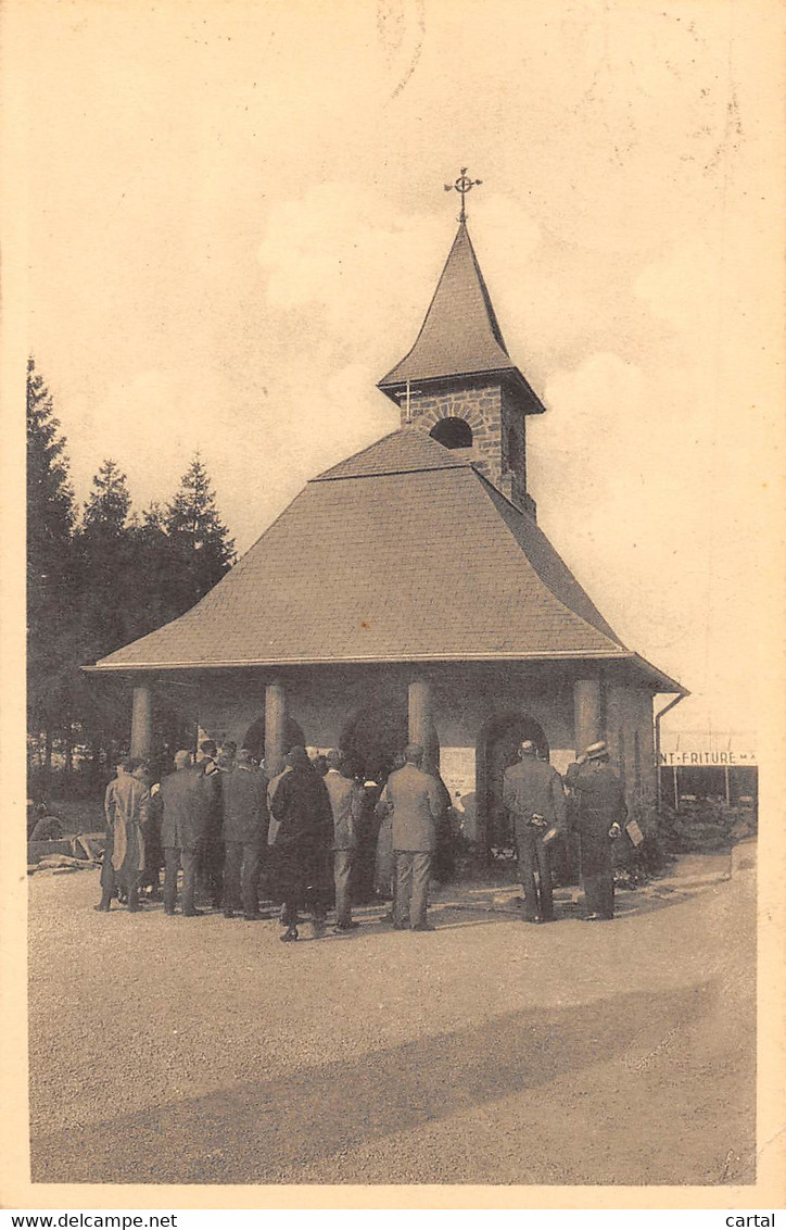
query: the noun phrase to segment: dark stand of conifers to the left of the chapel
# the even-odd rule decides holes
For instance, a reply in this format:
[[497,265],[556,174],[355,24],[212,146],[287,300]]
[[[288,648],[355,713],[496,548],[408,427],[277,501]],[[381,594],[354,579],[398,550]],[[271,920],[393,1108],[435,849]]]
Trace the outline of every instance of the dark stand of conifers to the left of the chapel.
[[235,561],[235,544],[196,454],[168,502],[131,507],[107,458],[79,507],[68,440],[34,359],[27,364],[27,733],[38,791],[128,742],[128,696],[81,667],[177,619]]

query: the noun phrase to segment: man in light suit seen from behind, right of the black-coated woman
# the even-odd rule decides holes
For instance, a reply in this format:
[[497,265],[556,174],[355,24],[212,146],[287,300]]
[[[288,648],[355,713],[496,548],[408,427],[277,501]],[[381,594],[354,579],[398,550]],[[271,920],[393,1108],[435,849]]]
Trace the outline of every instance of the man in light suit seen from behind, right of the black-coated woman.
[[393,812],[393,926],[399,931],[407,926],[411,931],[434,931],[426,922],[426,908],[442,795],[436,777],[422,771],[422,756],[418,743],[404,749],[404,768],[391,774],[377,803],[378,815]]

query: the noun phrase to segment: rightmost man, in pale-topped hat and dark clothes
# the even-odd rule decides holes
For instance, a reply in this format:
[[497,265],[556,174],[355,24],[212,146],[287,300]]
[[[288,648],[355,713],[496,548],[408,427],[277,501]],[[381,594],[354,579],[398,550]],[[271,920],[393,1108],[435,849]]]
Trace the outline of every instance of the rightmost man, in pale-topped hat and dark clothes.
[[609,764],[605,743],[593,743],[575,764],[565,782],[577,802],[581,881],[587,903],[587,920],[614,918],[614,872],[612,843],[620,835],[628,815],[625,791]]

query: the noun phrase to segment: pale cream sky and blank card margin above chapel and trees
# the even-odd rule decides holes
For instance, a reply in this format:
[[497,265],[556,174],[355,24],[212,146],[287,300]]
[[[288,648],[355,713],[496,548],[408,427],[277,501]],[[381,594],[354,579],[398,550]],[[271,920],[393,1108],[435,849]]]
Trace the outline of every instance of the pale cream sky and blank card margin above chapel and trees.
[[[239,551],[398,427],[469,229],[538,518],[625,643],[755,729],[781,465],[780,46],[759,0],[25,0],[26,347],[80,501],[195,450]],[[775,310],[774,310],[775,309]],[[679,715],[679,718],[677,717]]]

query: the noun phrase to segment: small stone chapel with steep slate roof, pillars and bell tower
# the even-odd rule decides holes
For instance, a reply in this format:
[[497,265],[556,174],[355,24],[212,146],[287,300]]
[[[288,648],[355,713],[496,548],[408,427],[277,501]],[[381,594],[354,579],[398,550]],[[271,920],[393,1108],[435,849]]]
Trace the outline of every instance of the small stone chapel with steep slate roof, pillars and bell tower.
[[564,771],[604,738],[655,795],[653,697],[675,680],[626,648],[538,528],[527,419],[464,209],[409,353],[378,383],[399,426],[317,475],[194,608],[86,668],[126,681],[131,753],[156,707],[264,754],[340,747],[376,780],[421,743],[468,841],[502,840],[523,738]]

